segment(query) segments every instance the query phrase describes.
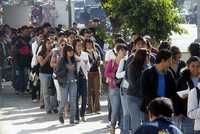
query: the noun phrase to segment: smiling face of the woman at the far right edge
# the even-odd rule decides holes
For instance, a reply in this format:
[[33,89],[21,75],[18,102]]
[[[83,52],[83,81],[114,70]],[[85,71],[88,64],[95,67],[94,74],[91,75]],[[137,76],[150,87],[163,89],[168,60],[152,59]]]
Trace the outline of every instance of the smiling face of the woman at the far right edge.
[[196,62],[192,62],[188,65],[188,69],[191,72],[191,75],[194,77],[199,76],[200,74],[200,62],[196,61]]

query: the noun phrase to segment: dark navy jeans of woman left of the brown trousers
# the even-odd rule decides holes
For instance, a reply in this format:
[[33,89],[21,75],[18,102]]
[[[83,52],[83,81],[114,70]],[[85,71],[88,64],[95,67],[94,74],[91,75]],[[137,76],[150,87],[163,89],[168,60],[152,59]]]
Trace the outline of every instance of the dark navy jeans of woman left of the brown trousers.
[[84,78],[79,78],[77,81],[77,99],[76,99],[76,120],[79,120],[79,99],[81,101],[80,116],[85,116],[86,105],[87,105],[87,80]]

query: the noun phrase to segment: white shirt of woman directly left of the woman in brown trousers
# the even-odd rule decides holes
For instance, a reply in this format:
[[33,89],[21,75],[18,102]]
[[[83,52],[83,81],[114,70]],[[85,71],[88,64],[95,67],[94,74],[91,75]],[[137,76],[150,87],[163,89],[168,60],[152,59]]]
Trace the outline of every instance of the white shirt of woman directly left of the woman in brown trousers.
[[[86,79],[88,79],[88,71],[90,70],[90,63],[89,63],[89,57],[88,53],[81,52],[81,55],[75,55],[76,59],[80,60],[80,62],[77,63],[77,71],[80,71],[80,68],[82,69]],[[87,62],[87,63],[85,63]]]

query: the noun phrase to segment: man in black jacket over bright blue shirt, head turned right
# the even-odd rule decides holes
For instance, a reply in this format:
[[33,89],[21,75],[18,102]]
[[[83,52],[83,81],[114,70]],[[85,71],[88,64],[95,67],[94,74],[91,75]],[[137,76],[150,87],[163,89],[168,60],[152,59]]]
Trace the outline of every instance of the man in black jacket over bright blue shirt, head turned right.
[[144,71],[141,78],[141,88],[144,95],[143,111],[146,111],[148,103],[156,97],[168,97],[173,102],[176,102],[178,98],[176,83],[169,71],[171,61],[171,52],[169,50],[161,50],[157,54],[156,64]]

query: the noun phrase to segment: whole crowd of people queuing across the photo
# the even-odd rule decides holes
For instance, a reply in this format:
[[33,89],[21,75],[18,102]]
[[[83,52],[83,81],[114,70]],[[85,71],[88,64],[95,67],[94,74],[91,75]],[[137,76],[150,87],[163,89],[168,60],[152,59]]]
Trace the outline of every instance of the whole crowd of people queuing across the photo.
[[189,46],[187,62],[175,44],[163,41],[156,49],[149,36],[137,33],[130,42],[113,34],[113,48],[107,50],[96,34],[99,23],[94,19],[84,29],[74,23],[69,30],[49,23],[2,25],[0,78],[10,64],[16,95],[29,91],[32,101],[47,114],[58,114],[62,124],[66,116],[78,124],[87,121],[86,112],[101,113],[105,78],[111,134],[117,125],[122,134],[200,134],[200,44]]

